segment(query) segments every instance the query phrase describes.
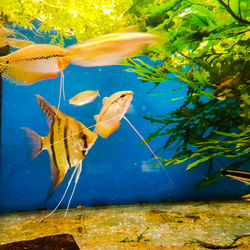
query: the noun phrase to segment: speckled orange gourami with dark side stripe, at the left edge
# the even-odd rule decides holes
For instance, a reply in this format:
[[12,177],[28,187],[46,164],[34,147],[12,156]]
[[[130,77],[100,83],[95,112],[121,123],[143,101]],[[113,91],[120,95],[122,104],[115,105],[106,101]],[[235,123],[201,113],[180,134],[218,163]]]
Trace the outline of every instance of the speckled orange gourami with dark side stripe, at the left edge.
[[70,63],[69,52],[55,45],[34,44],[0,57],[4,78],[29,85],[47,78],[56,78]]

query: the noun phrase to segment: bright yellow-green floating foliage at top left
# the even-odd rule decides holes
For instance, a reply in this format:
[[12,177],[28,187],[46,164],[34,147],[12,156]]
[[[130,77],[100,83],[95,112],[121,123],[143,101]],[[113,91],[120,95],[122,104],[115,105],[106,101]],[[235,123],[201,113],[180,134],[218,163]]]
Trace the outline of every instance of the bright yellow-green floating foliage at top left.
[[63,46],[64,38],[82,41],[133,25],[131,15],[124,15],[131,4],[130,0],[1,0],[0,17],[26,29],[54,31],[51,43]]

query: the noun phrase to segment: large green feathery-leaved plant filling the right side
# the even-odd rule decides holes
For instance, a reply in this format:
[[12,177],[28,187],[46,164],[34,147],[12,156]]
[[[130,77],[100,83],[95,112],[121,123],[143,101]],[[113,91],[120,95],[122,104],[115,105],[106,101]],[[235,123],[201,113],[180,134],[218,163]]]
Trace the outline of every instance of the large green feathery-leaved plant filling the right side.
[[[184,100],[172,112],[145,116],[159,125],[147,141],[164,136],[166,142],[161,149],[176,150],[170,159],[161,159],[165,166],[187,162],[189,170],[227,157],[236,161],[229,168],[238,168],[249,161],[247,1],[135,0],[129,13],[147,31],[158,32],[162,41],[161,46],[147,52],[156,61],[154,65],[129,59],[128,71],[156,87],[175,80],[176,87],[170,93],[182,93],[177,99]],[[167,97],[169,93],[162,94]],[[215,173],[198,185],[218,177],[219,173]]]

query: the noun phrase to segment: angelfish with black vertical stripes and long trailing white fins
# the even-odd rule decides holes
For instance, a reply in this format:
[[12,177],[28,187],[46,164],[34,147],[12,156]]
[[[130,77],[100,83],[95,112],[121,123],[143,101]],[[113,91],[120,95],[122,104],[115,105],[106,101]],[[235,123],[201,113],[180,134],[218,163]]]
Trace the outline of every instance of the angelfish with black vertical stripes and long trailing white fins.
[[50,195],[53,194],[54,190],[63,181],[68,170],[75,167],[62,199],[56,208],[46,217],[50,216],[59,207],[76,174],[74,188],[65,212],[66,215],[81,173],[82,161],[94,145],[98,136],[73,117],[58,111],[41,96],[37,95],[36,100],[47,117],[50,127],[49,134],[45,137],[41,137],[29,128],[24,129],[33,145],[33,158],[44,149],[49,153],[52,175]]

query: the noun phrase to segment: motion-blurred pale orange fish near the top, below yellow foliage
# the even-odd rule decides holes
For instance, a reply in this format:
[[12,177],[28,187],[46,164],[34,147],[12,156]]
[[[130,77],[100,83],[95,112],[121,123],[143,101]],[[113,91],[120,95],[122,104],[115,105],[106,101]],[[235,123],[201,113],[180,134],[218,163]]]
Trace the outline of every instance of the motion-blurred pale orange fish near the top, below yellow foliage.
[[70,46],[73,64],[93,67],[119,64],[123,59],[137,56],[141,49],[153,44],[158,36],[143,32],[113,33]]

